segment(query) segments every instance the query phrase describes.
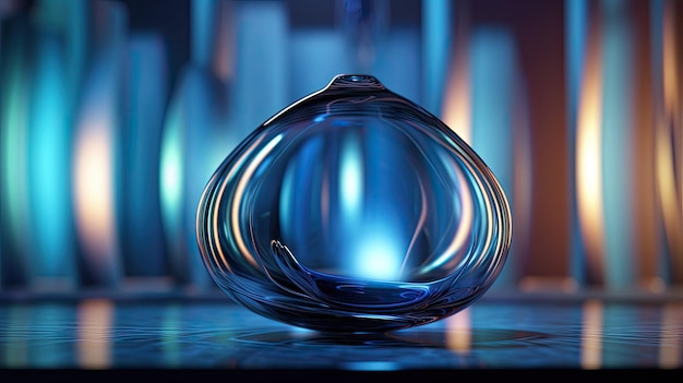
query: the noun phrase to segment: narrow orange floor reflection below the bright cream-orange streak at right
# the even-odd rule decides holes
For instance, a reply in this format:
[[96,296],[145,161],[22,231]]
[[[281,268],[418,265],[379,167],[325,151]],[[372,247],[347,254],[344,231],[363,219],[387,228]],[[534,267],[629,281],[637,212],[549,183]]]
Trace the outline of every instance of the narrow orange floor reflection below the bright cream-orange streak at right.
[[602,364],[602,303],[595,299],[583,307],[580,366],[587,370]]

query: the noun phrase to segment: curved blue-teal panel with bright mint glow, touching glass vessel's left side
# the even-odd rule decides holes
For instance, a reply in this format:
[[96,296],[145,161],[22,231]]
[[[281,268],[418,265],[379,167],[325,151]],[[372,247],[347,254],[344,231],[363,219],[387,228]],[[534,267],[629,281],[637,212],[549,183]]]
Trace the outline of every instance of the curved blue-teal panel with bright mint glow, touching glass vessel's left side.
[[211,284],[196,246],[196,208],[221,159],[215,155],[217,147],[233,146],[219,135],[228,129],[225,97],[223,82],[188,65],[170,100],[161,136],[159,195],[170,274],[177,284],[200,290]]

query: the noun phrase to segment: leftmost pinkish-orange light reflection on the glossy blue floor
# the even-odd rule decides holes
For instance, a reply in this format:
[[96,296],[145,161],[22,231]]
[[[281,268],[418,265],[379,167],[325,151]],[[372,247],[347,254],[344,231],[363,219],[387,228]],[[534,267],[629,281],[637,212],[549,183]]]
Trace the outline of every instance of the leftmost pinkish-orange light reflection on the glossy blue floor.
[[84,369],[111,366],[110,330],[113,304],[106,299],[85,300],[79,306],[79,363]]

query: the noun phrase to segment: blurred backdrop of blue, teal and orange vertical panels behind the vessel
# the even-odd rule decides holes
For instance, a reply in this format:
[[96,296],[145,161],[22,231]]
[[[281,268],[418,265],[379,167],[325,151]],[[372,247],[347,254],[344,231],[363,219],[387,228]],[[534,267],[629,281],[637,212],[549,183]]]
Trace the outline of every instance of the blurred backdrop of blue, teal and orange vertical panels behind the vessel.
[[683,290],[682,1],[0,0],[0,296],[216,292],[204,184],[339,73],[499,177],[491,294]]

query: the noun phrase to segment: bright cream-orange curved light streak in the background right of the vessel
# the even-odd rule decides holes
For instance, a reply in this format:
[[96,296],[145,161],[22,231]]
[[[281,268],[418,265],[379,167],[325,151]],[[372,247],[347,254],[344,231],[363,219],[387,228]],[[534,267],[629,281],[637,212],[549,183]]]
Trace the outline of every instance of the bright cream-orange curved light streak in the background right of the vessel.
[[586,261],[601,275],[604,249],[602,212],[602,74],[599,38],[591,35],[582,81],[576,127],[576,198]]

